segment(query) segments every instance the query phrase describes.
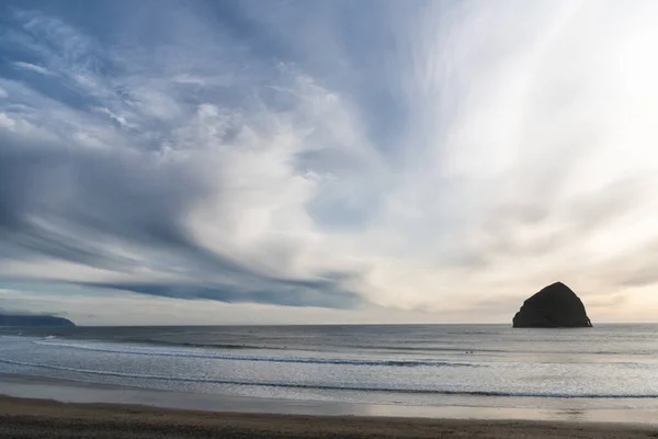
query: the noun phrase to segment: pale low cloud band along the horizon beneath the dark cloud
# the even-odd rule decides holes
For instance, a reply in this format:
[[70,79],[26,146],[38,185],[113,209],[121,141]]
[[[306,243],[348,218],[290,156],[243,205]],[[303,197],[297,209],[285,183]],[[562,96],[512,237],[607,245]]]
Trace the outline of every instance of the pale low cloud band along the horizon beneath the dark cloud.
[[[11,304],[5,312],[31,309],[35,313],[65,315],[78,325],[235,325],[251,322],[263,325],[350,324],[353,322],[431,323],[435,315],[386,308],[333,309],[327,307],[287,307],[254,303],[224,303],[215,300],[186,300],[136,294],[123,291],[69,288],[53,293],[50,286],[24,285],[20,290],[0,290],[0,300]],[[258,317],[258,320],[254,320]],[[450,316],[449,316],[450,317]]]

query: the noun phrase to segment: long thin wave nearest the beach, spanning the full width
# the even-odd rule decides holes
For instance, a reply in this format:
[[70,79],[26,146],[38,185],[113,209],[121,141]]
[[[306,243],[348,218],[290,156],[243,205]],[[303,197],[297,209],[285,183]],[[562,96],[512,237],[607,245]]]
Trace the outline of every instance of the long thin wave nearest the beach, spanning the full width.
[[569,393],[533,393],[533,392],[499,392],[499,391],[453,391],[434,389],[400,389],[400,387],[372,387],[355,385],[336,385],[321,383],[290,383],[290,382],[260,382],[260,381],[239,381],[220,380],[188,376],[166,376],[152,374],[124,373],[113,371],[98,371],[90,369],[68,368],[64,365],[31,363],[14,361],[0,358],[1,363],[24,365],[31,368],[50,369],[67,372],[76,372],[101,376],[127,378],[134,380],[157,380],[181,383],[200,384],[224,384],[239,386],[260,386],[260,387],[281,387],[281,389],[306,389],[306,390],[326,390],[326,391],[353,391],[353,392],[377,392],[377,393],[398,393],[398,394],[430,394],[430,395],[453,395],[453,396],[483,396],[483,397],[534,397],[534,398],[561,398],[561,399],[658,399],[658,394],[569,394]]

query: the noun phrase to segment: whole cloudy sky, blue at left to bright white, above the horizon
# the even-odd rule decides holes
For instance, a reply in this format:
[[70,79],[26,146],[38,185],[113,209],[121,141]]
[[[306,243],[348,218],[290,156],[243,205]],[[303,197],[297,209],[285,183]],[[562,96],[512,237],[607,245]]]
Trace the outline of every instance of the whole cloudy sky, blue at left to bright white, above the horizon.
[[0,309],[658,320],[655,1],[0,0]]

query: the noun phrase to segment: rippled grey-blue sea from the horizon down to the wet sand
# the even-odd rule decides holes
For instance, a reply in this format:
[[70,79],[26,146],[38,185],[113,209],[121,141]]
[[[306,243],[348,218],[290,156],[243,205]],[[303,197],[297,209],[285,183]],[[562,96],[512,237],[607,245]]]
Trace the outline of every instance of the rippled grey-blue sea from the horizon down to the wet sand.
[[235,396],[658,408],[658,325],[0,329],[0,373]]

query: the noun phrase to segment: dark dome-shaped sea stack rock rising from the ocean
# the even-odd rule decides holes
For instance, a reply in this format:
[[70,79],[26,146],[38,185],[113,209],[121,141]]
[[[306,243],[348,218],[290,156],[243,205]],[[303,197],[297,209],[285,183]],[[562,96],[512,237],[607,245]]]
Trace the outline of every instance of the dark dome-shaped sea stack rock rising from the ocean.
[[515,328],[589,328],[585,305],[570,288],[556,282],[523,302]]

